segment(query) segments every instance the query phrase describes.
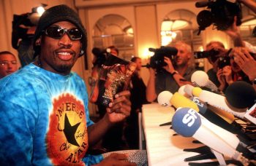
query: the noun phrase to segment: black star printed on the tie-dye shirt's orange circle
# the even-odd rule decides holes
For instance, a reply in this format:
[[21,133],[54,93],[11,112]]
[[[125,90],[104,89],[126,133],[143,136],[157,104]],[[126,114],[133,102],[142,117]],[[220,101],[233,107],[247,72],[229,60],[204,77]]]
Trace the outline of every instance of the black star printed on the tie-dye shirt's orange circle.
[[69,119],[67,118],[67,114],[65,114],[65,122],[64,122],[64,135],[67,138],[67,141],[71,143],[72,145],[78,146],[78,142],[75,140],[75,132],[78,130],[78,126],[81,122],[77,123],[76,125],[71,125],[69,122]]

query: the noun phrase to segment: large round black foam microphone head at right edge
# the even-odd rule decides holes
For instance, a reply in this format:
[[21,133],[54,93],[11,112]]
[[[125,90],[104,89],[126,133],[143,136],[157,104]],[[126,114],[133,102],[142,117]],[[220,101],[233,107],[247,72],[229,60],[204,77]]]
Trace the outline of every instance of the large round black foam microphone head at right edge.
[[235,108],[251,108],[256,103],[256,91],[251,84],[233,82],[225,90],[227,102]]

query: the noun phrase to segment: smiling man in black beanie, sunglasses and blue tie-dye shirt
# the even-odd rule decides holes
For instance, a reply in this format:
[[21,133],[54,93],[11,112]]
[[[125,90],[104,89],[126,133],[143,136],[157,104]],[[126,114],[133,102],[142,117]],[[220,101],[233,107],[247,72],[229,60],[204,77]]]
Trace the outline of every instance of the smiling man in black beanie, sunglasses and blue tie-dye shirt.
[[130,114],[129,91],[115,96],[107,114],[89,119],[83,79],[71,71],[86,53],[86,30],[65,5],[40,17],[34,34],[37,61],[0,81],[0,165],[135,165],[125,154],[86,151]]

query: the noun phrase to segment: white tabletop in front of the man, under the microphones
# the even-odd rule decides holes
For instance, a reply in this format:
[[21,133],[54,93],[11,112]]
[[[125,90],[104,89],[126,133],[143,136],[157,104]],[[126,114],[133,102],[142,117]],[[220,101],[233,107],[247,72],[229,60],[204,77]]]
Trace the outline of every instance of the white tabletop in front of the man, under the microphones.
[[[146,151],[148,165],[188,165],[184,162],[187,157],[197,155],[194,152],[186,152],[183,149],[197,148],[203,146],[200,143],[192,143],[193,138],[184,138],[175,135],[170,125],[160,127],[160,124],[170,122],[174,114],[171,107],[163,107],[158,103],[143,105],[143,130],[146,138]],[[211,159],[198,160],[193,162],[211,162]]]

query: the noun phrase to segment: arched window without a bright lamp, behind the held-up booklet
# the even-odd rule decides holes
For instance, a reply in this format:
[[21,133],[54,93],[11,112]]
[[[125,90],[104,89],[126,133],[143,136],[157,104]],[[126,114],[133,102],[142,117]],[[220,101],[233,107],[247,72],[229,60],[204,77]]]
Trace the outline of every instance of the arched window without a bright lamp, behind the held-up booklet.
[[130,59],[135,54],[133,28],[121,15],[105,15],[94,25],[94,47],[115,46],[119,56]]

